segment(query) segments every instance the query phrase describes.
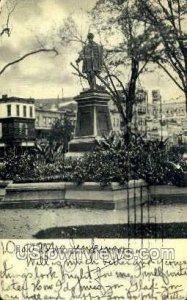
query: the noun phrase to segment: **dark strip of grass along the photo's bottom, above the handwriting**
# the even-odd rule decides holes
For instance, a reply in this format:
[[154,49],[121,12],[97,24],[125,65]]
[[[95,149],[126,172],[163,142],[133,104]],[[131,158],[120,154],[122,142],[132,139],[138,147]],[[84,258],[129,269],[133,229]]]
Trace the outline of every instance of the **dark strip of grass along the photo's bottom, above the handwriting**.
[[187,238],[187,223],[115,224],[54,227],[35,238]]

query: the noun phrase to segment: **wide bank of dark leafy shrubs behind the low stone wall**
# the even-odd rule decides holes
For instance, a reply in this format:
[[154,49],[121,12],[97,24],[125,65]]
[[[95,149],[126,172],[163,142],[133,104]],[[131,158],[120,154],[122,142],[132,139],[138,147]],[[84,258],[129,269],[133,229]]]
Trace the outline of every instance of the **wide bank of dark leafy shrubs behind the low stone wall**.
[[98,142],[94,152],[80,158],[66,158],[63,153],[49,159],[46,153],[10,152],[1,167],[0,177],[15,182],[71,181],[81,184],[110,182],[125,184],[131,179],[144,179],[148,184],[185,185],[187,164],[182,160],[184,149],[167,148],[162,141],[146,141],[132,135],[130,143],[111,134]]

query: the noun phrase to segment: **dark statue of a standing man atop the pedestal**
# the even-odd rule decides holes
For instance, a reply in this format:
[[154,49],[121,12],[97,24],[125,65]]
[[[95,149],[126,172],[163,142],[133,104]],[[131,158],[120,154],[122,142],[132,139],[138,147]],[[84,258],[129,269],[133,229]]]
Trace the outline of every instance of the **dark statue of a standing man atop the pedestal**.
[[83,61],[82,72],[86,73],[90,89],[96,89],[96,75],[103,65],[103,47],[95,43],[93,33],[88,33],[88,43],[83,47],[76,63]]

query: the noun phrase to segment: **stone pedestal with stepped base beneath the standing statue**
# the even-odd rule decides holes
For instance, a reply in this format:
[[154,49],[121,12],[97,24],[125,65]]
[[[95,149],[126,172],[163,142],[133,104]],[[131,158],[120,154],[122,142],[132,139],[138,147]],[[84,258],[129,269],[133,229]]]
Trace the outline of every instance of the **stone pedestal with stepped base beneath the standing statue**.
[[75,137],[69,143],[69,154],[92,151],[96,139],[109,134],[111,127],[106,91],[89,90],[74,98],[78,104]]

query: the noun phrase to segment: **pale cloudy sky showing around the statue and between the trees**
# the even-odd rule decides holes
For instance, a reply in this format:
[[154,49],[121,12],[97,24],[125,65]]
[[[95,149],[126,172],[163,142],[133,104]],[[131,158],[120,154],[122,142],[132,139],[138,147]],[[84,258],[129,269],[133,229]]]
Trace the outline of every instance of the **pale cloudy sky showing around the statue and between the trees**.
[[[14,1],[14,0],[9,0]],[[89,31],[87,11],[96,0],[17,0],[17,6],[10,19],[11,36],[0,40],[0,69],[8,62],[39,48],[38,41],[52,45],[57,28],[73,14],[83,37]],[[6,0],[0,1],[1,19],[6,17]],[[95,36],[97,42],[98,37]],[[99,41],[99,40],[98,40]],[[80,80],[70,66],[78,57],[80,44],[59,48],[54,57],[51,53],[31,56],[7,69],[0,76],[0,95],[24,98],[57,98],[76,96],[82,90]],[[142,86],[151,93],[160,89],[163,101],[183,98],[173,82],[162,72],[149,73],[142,77]],[[84,83],[84,87],[87,84]]]

